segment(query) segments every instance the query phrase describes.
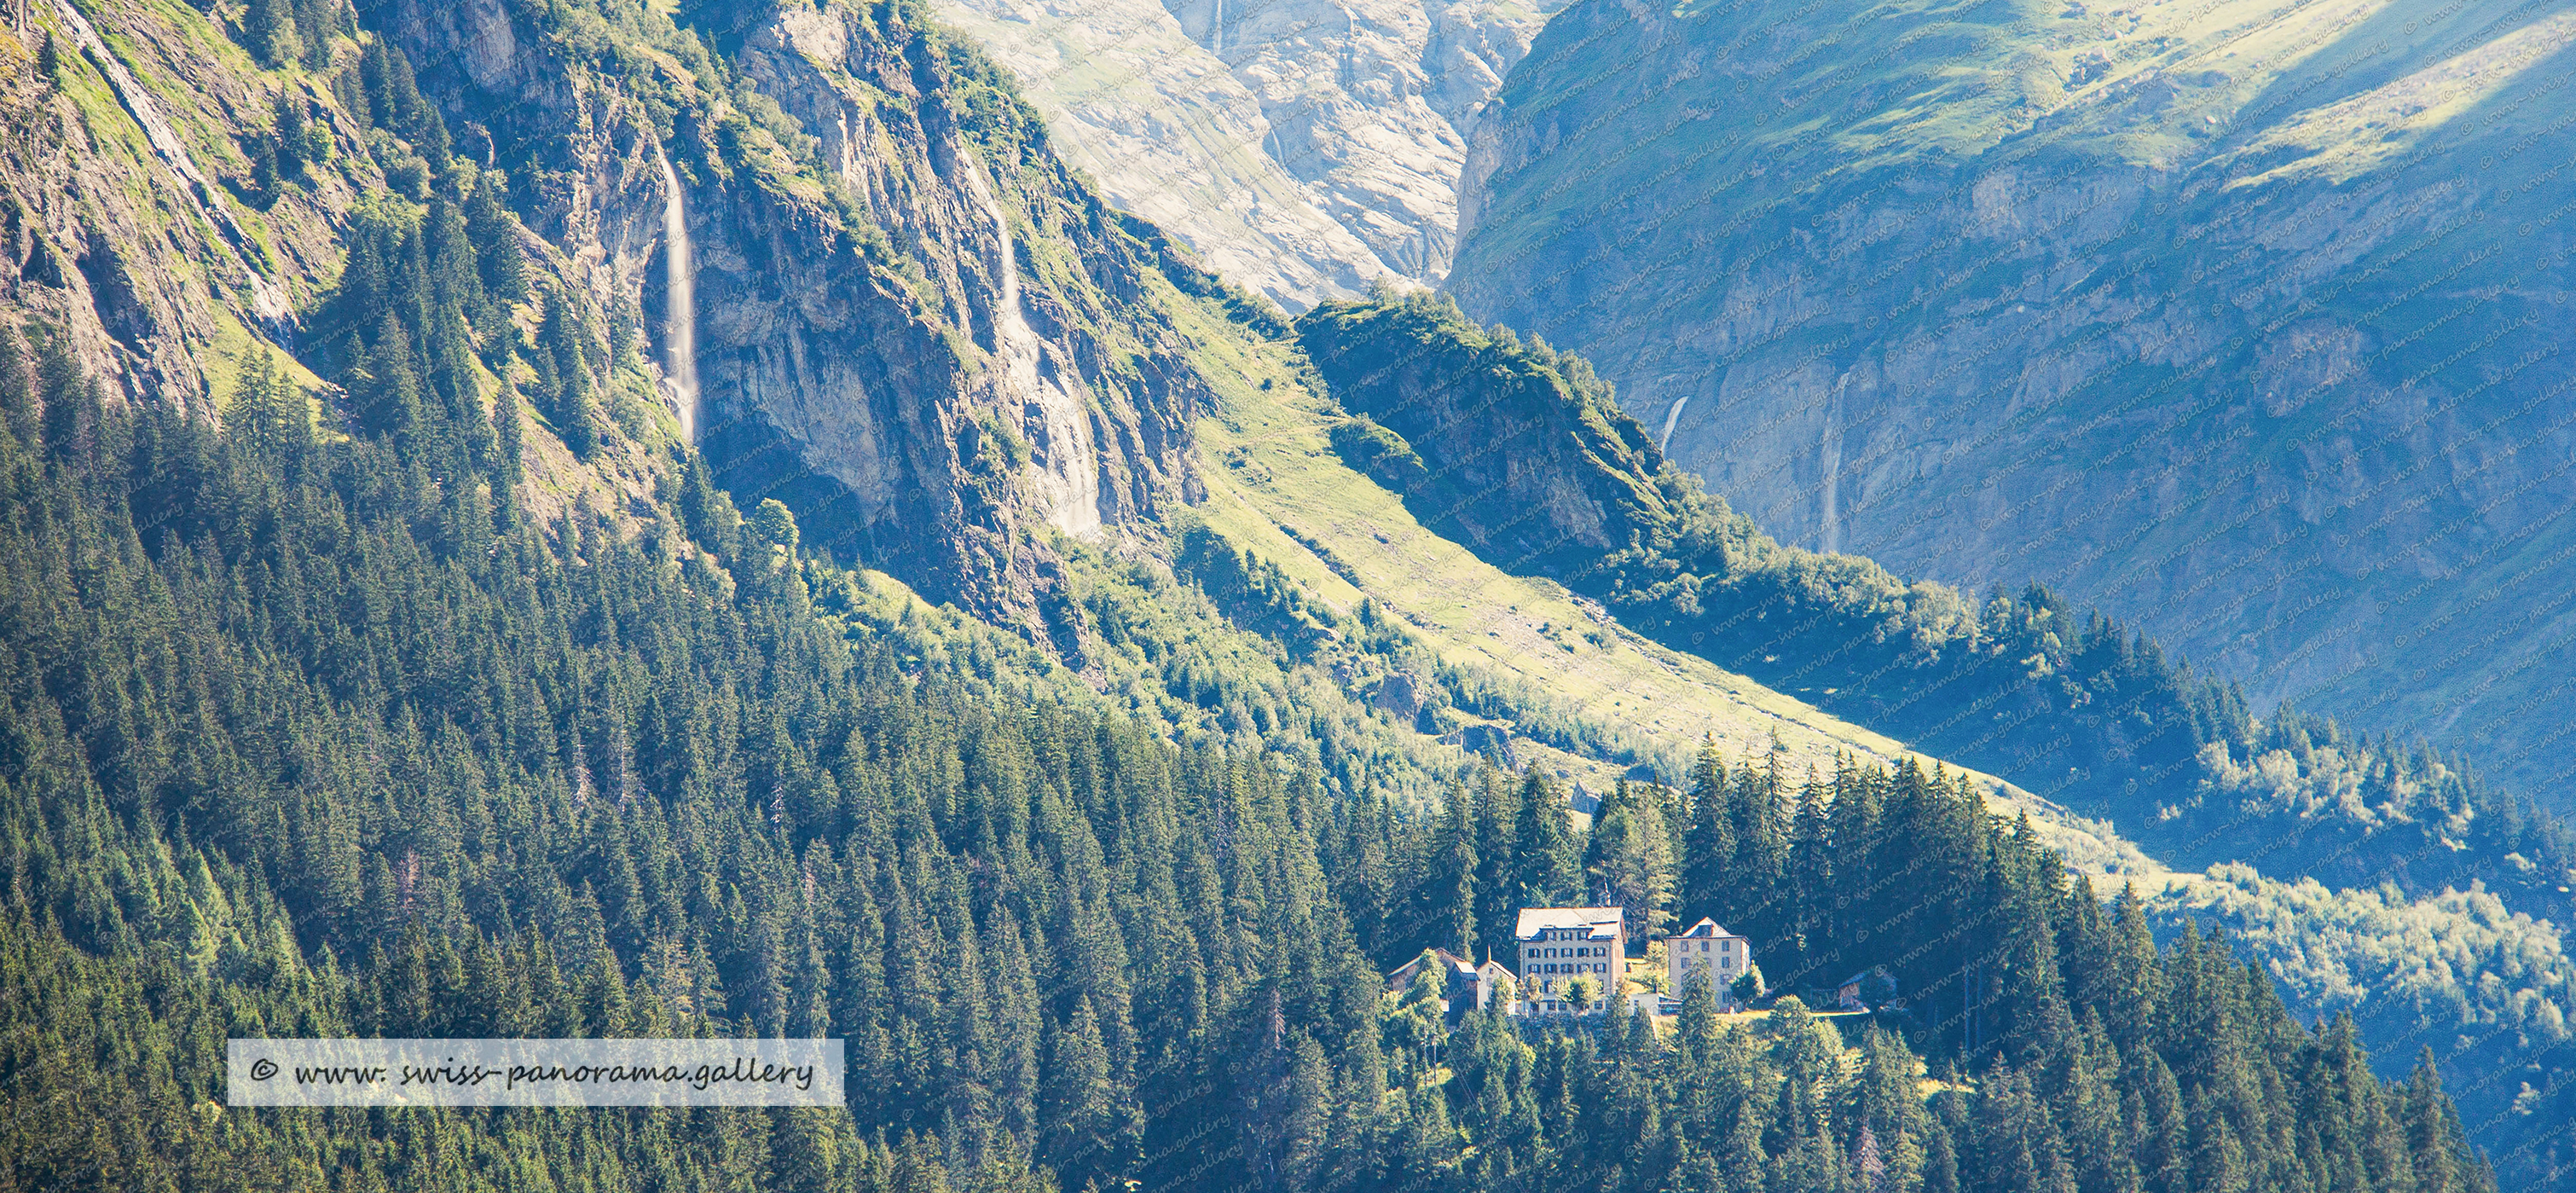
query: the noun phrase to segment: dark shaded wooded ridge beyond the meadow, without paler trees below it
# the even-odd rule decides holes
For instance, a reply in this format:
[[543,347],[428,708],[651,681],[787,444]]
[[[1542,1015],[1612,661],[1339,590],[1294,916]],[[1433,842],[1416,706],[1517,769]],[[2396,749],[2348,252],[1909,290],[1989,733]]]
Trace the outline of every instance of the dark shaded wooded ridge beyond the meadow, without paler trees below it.
[[2110,819],[2174,866],[2257,861],[2427,894],[2483,881],[2568,920],[2576,835],[2478,758],[2257,721],[2233,688],[2032,585],[1984,606],[1780,546],[1623,415],[1592,366],[1437,299],[1327,304],[1298,340],[1355,417],[1334,448],[1414,515],[1628,626],[1914,747]]

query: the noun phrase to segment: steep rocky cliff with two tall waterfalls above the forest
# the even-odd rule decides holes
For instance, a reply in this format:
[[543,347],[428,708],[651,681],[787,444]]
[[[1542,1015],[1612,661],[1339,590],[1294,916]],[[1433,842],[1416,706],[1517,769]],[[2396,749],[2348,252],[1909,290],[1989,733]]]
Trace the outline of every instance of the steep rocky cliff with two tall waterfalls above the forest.
[[1188,487],[1203,381],[1146,294],[1154,234],[914,10],[693,18],[732,52],[724,85],[677,59],[608,77],[580,31],[497,3],[404,5],[389,28],[453,121],[487,121],[533,227],[647,327],[672,314],[680,180],[698,446],[742,505],[781,497],[806,544],[1048,631],[1059,572],[1025,526],[1113,533]]

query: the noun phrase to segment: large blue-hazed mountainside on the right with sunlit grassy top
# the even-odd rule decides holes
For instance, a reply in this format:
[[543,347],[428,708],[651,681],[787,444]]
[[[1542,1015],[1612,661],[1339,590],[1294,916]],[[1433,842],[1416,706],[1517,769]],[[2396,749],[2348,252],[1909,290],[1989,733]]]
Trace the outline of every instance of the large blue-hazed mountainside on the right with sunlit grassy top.
[[1450,286],[1783,541],[2043,580],[2568,809],[2563,3],[1558,15]]

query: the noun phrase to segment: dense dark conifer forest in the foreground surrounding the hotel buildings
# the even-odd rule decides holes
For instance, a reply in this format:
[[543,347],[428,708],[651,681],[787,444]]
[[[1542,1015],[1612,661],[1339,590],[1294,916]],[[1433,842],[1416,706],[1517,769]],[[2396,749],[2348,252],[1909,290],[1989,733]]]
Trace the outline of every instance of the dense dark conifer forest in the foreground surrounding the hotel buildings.
[[[1850,1056],[1790,1000],[1747,1031],[1700,995],[1669,1041],[1443,1033],[1355,948],[1368,801],[907,680],[814,611],[793,523],[703,469],[670,533],[459,551],[394,433],[90,407],[62,438],[82,392],[36,392],[0,384],[15,1183],[1231,1188],[1203,1157],[1234,1154],[1278,1188],[2488,1188],[2429,1067],[2380,1085],[2226,946],[2159,953],[1963,781],[1855,770],[1832,825],[1783,827],[1749,773],[1690,804],[1741,822],[1744,915],[1826,907],[1765,879],[1798,866],[1906,904],[1811,920],[1819,946],[1868,930],[1937,974],[1971,940],[1958,1028]],[[1471,910],[1481,866],[1574,894],[1574,830],[1528,786],[1533,835],[1479,853],[1453,812],[1406,897]],[[222,1038],[260,1031],[827,1033],[853,1098],[214,1108]],[[1953,1093],[1919,1095],[1924,1051]]]

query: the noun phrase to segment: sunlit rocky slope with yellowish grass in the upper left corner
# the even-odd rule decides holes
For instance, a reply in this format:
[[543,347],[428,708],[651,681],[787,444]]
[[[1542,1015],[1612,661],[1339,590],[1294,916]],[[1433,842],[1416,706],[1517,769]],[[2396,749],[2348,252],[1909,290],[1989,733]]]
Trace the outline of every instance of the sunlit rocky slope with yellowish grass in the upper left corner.
[[[36,70],[46,33],[54,77]],[[178,5],[33,0],[0,36],[0,294],[111,399],[211,412],[242,350],[296,340],[340,263],[332,227],[381,175],[327,95],[204,33]],[[245,134],[281,90],[314,103],[327,160],[263,201]]]

